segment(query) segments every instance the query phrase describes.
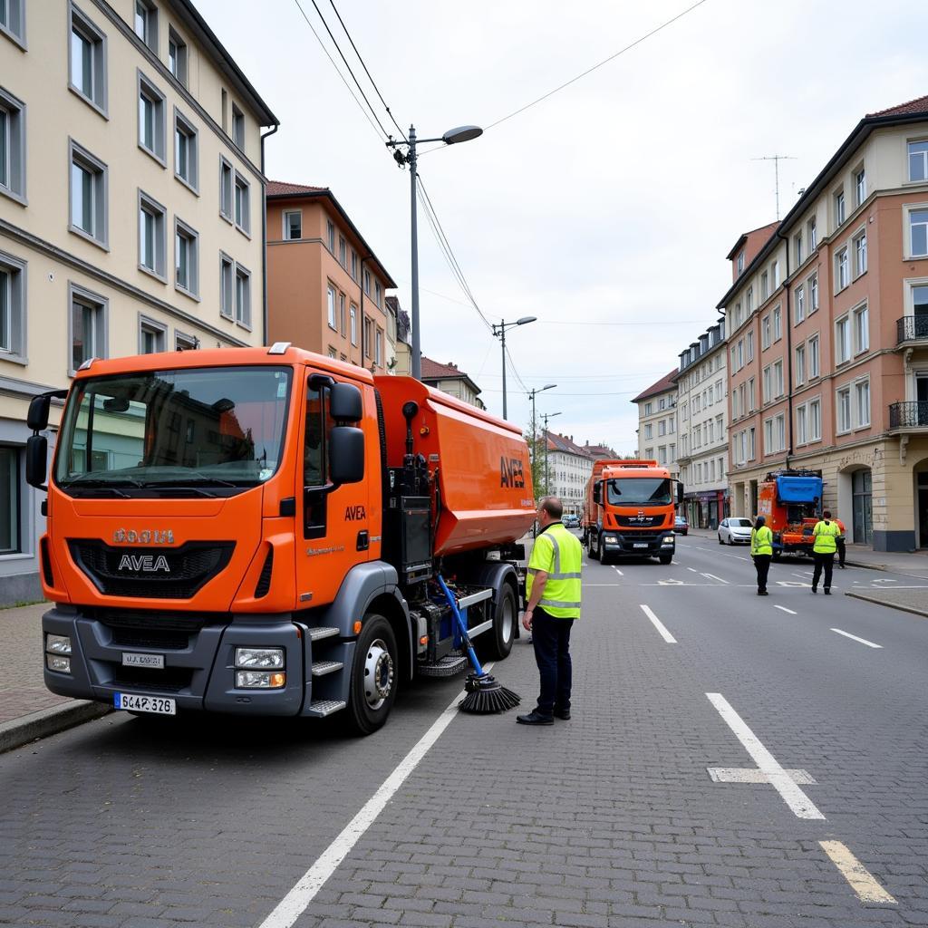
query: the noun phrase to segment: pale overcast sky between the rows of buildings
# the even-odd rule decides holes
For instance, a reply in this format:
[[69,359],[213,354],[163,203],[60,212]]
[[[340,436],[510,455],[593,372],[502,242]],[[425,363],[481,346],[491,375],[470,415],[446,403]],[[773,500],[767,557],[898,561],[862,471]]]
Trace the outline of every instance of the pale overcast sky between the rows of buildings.
[[[195,2],[281,122],[268,176],[330,187],[408,310],[409,176],[295,0]],[[316,2],[363,80],[329,0]],[[397,121],[427,137],[489,126],[693,0],[335,3]],[[538,317],[507,345],[527,388],[558,384],[537,398],[539,415],[561,413],[552,431],[635,449],[629,400],[715,321],[741,232],[776,218],[773,164],[754,159],[793,157],[780,162],[785,213],[861,116],[928,93],[926,27],[928,10],[902,0],[705,0],[481,138],[421,158],[484,315]],[[499,342],[421,212],[419,262],[423,353],[457,363],[501,415]],[[509,367],[509,419],[527,427],[530,409]]]

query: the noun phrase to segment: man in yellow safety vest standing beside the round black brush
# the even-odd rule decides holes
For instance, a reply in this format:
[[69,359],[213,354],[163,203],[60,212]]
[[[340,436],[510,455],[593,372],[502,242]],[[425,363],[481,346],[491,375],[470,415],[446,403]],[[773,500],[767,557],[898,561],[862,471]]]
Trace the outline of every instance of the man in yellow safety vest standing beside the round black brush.
[[532,633],[541,694],[532,712],[516,717],[521,725],[553,725],[555,715],[571,717],[571,628],[580,618],[583,548],[564,528],[562,512],[557,496],[546,496],[538,505],[541,531],[528,561],[522,625]]

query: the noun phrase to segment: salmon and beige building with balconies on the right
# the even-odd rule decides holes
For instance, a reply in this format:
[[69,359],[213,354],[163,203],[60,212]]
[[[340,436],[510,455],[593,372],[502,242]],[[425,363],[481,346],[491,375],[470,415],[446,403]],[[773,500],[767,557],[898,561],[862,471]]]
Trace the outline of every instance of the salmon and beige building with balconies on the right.
[[820,470],[851,542],[928,547],[928,97],[861,119],[766,232],[718,304],[734,514]]

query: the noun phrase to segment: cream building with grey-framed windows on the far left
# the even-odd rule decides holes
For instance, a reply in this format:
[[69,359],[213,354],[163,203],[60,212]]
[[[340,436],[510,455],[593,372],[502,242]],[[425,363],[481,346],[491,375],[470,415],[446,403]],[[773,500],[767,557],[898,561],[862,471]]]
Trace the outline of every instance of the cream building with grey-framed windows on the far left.
[[41,596],[32,396],[95,357],[264,341],[276,125],[188,0],[0,0],[0,603]]

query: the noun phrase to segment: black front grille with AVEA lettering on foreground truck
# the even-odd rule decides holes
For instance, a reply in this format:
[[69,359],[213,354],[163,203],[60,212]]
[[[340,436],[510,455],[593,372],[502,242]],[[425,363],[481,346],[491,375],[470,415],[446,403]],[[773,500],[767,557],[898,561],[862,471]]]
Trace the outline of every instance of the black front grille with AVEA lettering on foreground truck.
[[69,538],[74,562],[107,596],[190,599],[232,557],[234,541],[188,541],[179,548],[113,548]]

